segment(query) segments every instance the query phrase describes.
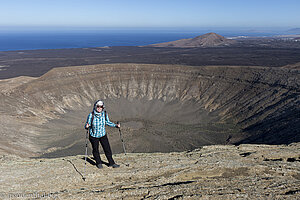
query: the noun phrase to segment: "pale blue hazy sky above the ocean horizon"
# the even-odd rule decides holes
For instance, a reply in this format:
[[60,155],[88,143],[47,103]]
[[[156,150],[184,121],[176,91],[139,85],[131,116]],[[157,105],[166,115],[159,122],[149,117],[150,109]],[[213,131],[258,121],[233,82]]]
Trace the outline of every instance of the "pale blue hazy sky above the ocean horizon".
[[300,0],[0,0],[0,26],[300,27]]

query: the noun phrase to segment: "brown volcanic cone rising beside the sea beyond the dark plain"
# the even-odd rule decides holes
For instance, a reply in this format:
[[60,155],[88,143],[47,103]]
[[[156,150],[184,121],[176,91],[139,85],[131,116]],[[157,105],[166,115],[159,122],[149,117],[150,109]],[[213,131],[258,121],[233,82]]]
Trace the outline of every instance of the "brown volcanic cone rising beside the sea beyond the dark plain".
[[165,42],[153,44],[155,47],[215,47],[228,46],[235,43],[234,40],[226,39],[225,37],[216,33],[207,33],[190,39],[176,40],[172,42]]

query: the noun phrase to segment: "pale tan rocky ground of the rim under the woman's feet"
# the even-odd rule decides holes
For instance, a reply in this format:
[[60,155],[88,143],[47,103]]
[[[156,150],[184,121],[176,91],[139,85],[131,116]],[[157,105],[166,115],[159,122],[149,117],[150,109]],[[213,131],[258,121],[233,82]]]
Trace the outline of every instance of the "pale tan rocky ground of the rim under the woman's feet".
[[[204,146],[176,153],[0,158],[1,199],[300,199],[300,143]],[[85,178],[85,181],[83,180]]]

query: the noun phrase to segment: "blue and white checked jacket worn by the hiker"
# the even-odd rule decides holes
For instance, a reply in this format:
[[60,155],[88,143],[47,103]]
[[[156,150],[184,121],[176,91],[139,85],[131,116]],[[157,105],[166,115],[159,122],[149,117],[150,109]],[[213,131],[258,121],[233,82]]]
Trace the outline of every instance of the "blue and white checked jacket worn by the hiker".
[[111,126],[111,127],[116,127],[116,124],[109,121],[108,115],[104,111],[101,113],[98,113],[97,111],[93,110],[94,112],[94,120],[92,122],[92,113],[90,113],[87,117],[86,124],[90,125],[90,135],[92,137],[100,138],[103,137],[106,132],[105,132],[105,125]]

